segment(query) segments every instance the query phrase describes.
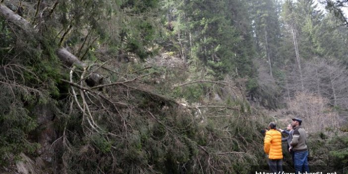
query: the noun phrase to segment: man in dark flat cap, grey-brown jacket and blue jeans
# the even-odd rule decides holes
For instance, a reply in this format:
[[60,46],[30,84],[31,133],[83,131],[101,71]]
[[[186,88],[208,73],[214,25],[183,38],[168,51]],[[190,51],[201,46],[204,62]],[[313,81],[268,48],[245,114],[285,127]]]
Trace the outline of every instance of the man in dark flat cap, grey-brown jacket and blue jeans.
[[293,130],[290,147],[294,152],[295,174],[309,173],[308,166],[308,147],[306,131],[301,127],[302,120],[299,118],[292,118]]

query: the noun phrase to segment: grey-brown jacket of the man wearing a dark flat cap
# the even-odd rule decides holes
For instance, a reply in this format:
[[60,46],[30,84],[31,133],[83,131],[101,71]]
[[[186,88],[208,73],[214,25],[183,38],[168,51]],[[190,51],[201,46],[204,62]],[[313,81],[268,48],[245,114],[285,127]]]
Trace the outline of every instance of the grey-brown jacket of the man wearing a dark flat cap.
[[293,130],[292,140],[290,146],[294,152],[307,151],[307,134],[301,126],[297,126]]

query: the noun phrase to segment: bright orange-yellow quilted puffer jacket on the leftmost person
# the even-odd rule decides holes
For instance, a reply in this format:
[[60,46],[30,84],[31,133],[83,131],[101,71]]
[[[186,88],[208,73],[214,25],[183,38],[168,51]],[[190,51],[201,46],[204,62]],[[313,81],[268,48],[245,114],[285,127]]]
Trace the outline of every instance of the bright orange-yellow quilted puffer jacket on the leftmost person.
[[264,150],[269,159],[283,159],[282,134],[275,129],[266,132]]

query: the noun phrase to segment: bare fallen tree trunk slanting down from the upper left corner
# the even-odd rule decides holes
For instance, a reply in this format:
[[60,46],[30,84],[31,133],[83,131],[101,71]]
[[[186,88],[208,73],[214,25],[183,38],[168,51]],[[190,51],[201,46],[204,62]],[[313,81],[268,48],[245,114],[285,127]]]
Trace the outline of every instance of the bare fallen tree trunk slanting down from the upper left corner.
[[[23,29],[27,33],[36,33],[36,31],[31,25],[29,21],[24,19],[23,17],[19,16],[15,12],[13,12],[11,9],[9,9],[5,4],[0,3],[0,15],[4,17],[8,22],[13,23],[14,25],[18,26],[19,28]],[[59,48],[56,51],[56,54],[58,58],[66,65],[71,66],[72,64],[76,64],[79,67],[87,68],[87,64],[80,61],[76,56],[68,52],[65,48]],[[103,78],[101,75],[95,74],[92,75],[93,77],[98,77],[95,80],[94,84],[100,84],[101,79]]]

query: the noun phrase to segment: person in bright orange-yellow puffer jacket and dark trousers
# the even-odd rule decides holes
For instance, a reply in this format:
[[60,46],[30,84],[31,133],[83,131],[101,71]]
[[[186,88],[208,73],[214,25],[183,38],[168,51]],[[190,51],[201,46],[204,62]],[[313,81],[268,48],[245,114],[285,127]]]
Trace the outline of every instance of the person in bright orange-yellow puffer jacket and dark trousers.
[[266,132],[264,140],[264,150],[268,156],[270,172],[283,172],[282,134],[277,130],[275,122],[270,122],[268,128],[269,131]]

